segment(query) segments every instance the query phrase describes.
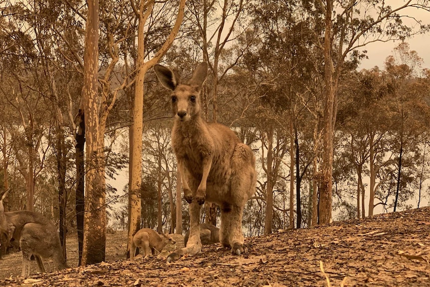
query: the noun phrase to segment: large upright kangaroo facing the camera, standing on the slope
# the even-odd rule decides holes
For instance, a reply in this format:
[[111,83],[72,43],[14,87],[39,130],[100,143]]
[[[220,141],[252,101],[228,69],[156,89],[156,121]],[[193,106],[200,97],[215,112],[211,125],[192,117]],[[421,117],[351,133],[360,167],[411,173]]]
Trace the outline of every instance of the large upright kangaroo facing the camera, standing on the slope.
[[247,252],[242,215],[246,201],[255,193],[255,156],[228,127],[202,118],[201,91],[208,76],[208,63],[199,64],[186,84],[167,67],[156,65],[154,69],[161,84],[172,90],[172,148],[184,198],[190,204],[190,239],[185,248],[175,250],[167,261],[201,252],[199,219],[205,201],[220,207],[221,244],[231,247],[236,255]]

